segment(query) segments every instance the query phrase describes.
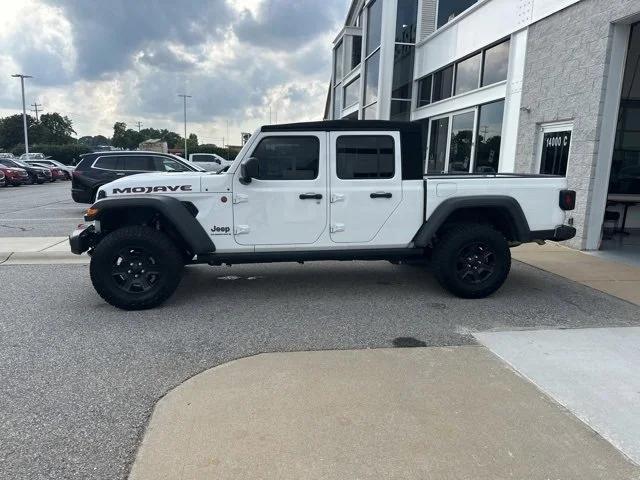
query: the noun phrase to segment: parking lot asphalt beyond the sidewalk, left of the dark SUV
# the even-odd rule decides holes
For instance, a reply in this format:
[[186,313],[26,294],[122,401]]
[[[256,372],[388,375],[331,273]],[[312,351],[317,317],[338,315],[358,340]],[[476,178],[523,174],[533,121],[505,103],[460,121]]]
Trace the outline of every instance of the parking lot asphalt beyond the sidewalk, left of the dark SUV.
[[71,182],[0,187],[0,237],[69,235],[87,205],[71,199]]

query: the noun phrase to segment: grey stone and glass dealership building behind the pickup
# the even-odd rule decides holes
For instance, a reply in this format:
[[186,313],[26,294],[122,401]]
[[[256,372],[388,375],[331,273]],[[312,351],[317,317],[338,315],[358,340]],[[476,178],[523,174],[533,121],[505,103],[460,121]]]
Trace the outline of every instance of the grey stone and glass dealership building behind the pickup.
[[565,175],[595,250],[640,227],[636,22],[640,0],[353,0],[325,118],[419,122],[426,173]]

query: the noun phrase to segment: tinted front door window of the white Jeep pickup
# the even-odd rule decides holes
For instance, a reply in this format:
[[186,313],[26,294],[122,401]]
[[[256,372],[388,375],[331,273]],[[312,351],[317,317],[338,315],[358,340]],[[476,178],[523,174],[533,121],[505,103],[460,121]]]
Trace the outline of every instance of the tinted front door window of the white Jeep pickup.
[[320,141],[317,137],[267,137],[253,151],[259,180],[318,178]]

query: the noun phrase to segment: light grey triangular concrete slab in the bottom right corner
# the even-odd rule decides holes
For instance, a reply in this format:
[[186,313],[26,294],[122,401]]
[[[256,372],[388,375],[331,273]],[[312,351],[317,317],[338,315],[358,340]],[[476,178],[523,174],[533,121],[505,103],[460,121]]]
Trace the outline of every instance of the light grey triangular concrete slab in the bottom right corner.
[[475,337],[640,464],[640,328]]

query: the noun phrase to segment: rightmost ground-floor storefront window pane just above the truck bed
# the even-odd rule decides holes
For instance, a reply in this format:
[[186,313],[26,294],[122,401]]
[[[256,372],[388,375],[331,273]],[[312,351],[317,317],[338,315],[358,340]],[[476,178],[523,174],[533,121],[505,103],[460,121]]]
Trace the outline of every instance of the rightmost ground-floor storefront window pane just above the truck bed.
[[476,163],[478,173],[496,173],[500,164],[502,117],[504,100],[480,107],[476,132]]

